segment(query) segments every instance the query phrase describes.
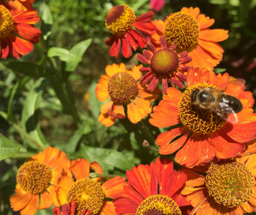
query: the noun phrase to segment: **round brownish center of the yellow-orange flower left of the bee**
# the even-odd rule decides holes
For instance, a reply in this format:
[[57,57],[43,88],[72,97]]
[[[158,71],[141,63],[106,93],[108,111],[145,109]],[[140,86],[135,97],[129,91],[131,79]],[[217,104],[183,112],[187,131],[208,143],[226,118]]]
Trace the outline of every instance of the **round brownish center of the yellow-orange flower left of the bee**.
[[125,105],[134,100],[138,94],[137,82],[132,75],[119,72],[113,75],[108,83],[111,100],[117,105]]

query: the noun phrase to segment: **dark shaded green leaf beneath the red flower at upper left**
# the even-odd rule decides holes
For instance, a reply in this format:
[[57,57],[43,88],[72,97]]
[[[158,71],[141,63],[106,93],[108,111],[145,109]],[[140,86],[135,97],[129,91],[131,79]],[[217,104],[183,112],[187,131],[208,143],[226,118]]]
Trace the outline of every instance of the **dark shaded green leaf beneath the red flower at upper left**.
[[50,70],[33,62],[3,62],[3,65],[17,74],[30,77],[52,77]]

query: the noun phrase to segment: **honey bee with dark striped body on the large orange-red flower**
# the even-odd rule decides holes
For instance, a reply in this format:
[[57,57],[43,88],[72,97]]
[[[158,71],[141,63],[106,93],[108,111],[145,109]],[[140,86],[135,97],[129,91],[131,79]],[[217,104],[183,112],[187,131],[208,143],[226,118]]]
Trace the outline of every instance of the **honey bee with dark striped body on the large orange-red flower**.
[[[245,81],[234,80],[234,82],[236,82],[235,85],[244,85]],[[243,108],[237,97],[213,87],[193,90],[191,92],[191,102],[199,108],[214,111],[219,117],[233,124],[238,122],[237,113]]]

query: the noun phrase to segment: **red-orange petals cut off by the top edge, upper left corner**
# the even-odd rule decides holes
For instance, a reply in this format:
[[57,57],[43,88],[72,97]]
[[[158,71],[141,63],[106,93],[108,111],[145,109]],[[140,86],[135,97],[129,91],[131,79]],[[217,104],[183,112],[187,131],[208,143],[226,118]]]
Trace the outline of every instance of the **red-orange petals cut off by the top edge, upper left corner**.
[[7,9],[27,11],[32,9],[32,2],[35,0],[2,0],[1,4],[4,4]]

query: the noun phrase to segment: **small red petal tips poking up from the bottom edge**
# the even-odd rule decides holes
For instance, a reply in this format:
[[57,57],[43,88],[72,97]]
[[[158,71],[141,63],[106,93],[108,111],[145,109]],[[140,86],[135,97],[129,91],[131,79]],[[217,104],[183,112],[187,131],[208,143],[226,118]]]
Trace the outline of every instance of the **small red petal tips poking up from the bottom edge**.
[[[60,206],[52,209],[54,215],[75,215],[76,213],[76,201],[70,201],[67,204],[63,204],[62,209]],[[91,211],[88,209],[84,209],[83,212],[79,215],[92,215]]]

